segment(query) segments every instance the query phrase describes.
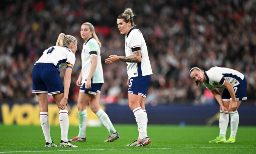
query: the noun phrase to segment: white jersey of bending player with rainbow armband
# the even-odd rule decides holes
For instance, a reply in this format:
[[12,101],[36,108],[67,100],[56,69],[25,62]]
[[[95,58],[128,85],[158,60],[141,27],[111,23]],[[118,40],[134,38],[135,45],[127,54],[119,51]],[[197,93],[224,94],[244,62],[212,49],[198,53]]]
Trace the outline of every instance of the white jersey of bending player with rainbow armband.
[[62,63],[75,65],[75,54],[66,46],[53,46],[44,50],[43,55],[38,59],[36,63],[50,63],[54,64],[57,68]]

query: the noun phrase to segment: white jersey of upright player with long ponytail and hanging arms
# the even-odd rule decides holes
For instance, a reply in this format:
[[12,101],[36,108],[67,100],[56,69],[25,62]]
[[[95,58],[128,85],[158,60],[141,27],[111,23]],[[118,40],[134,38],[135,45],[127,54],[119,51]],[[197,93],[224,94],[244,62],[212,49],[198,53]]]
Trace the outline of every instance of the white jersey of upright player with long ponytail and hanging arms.
[[83,50],[81,53],[82,60],[82,83],[86,83],[90,69],[91,69],[91,57],[97,56],[97,66],[93,74],[93,84],[104,83],[103,69],[101,65],[100,47],[97,41],[91,37],[87,42],[83,44]]

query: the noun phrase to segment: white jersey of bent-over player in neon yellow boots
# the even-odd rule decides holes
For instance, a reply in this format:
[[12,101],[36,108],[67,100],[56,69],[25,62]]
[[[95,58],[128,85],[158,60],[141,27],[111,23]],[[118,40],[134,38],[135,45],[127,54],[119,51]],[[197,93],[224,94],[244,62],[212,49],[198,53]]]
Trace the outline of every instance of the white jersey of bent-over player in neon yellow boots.
[[223,86],[225,81],[230,82],[232,86],[235,87],[244,80],[244,74],[225,67],[211,67],[209,70],[205,71],[204,74],[207,80],[203,82],[203,85],[210,91],[216,88],[225,88]]

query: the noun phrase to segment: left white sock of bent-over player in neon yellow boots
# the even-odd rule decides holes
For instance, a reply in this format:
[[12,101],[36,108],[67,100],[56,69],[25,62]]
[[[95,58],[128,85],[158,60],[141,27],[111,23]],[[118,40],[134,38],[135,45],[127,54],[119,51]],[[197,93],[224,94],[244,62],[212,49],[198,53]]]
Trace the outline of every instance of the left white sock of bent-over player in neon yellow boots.
[[226,131],[227,131],[227,126],[228,126],[228,121],[229,121],[229,116],[228,114],[223,113],[222,110],[220,110],[220,120],[219,120],[219,125],[220,125],[220,137],[226,137]]

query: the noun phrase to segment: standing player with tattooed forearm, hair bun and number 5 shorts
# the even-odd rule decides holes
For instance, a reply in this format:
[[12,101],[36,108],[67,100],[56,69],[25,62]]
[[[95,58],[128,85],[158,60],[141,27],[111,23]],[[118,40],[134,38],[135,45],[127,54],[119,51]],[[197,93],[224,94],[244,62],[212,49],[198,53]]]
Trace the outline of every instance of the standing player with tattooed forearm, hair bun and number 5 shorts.
[[133,12],[130,8],[117,17],[117,28],[125,34],[125,56],[110,55],[105,63],[116,61],[127,63],[128,73],[128,103],[133,111],[139,130],[139,137],[127,146],[144,146],[151,142],[147,136],[147,114],[145,99],[147,88],[151,80],[152,69],[148,57],[148,50],[139,29],[134,28]]

